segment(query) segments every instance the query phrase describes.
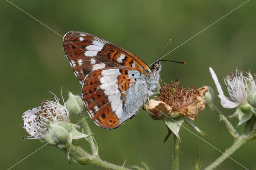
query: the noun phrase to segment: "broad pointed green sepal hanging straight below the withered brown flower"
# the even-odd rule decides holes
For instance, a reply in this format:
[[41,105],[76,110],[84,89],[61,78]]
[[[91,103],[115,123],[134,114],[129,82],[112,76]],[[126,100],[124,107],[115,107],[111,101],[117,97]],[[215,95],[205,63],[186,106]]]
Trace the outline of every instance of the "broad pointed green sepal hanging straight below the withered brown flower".
[[183,122],[184,122],[184,116],[170,118],[164,115],[165,125],[175,134],[175,136],[177,136],[179,140],[180,140],[179,131]]

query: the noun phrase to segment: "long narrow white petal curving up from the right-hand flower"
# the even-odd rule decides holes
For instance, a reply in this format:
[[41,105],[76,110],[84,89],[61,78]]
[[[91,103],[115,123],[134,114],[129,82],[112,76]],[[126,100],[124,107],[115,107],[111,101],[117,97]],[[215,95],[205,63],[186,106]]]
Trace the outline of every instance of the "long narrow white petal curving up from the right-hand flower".
[[228,109],[238,107],[238,105],[240,105],[240,103],[233,102],[233,101],[230,101],[227,99],[227,97],[224,95],[224,93],[222,91],[222,88],[220,86],[220,83],[218,81],[216,74],[214,73],[214,71],[211,67],[209,67],[209,69],[210,69],[210,73],[212,75],[212,79],[214,80],[217,91],[219,93],[218,97],[220,97],[220,104],[222,105],[222,107],[228,108]]

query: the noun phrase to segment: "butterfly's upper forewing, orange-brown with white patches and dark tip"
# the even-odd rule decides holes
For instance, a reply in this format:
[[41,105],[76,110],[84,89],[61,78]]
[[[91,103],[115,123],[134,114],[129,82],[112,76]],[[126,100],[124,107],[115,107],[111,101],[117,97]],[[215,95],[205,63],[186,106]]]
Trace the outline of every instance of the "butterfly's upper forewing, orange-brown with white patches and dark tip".
[[63,38],[66,56],[81,84],[91,71],[111,67],[136,67],[151,72],[141,59],[102,38],[86,32],[68,32]]

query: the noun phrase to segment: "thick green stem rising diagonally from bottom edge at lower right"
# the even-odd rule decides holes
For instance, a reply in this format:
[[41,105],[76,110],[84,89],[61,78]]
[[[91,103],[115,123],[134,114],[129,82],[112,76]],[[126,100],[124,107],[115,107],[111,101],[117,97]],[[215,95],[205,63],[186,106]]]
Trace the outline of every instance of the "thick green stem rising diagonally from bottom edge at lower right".
[[240,136],[238,137],[234,144],[224,152],[224,154],[222,154],[222,156],[220,156],[218,159],[216,159],[214,162],[212,162],[212,164],[210,164],[209,166],[207,166],[205,168],[205,170],[212,170],[214,168],[216,168],[217,166],[219,166],[222,162],[224,162],[224,160],[226,160],[226,158],[228,158],[230,155],[232,155],[240,146],[242,146],[244,143],[246,143],[246,139],[244,138],[244,136]]

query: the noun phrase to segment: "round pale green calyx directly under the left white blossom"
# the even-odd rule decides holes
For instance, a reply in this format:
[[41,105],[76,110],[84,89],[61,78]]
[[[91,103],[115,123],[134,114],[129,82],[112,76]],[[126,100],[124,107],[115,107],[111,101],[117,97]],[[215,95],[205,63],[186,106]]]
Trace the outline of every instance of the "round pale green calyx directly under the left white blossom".
[[72,136],[70,134],[71,125],[70,123],[54,121],[46,125],[44,132],[44,140],[49,145],[66,144],[72,142]]

